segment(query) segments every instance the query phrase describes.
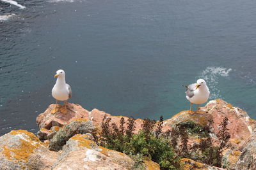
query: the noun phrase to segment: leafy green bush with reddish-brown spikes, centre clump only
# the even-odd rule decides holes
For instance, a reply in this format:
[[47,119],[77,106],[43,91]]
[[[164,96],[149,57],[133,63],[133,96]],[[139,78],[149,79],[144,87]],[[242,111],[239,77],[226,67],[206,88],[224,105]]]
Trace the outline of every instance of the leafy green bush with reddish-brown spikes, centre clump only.
[[161,169],[179,169],[179,157],[173,152],[170,140],[160,136],[163,118],[157,123],[156,132],[153,131],[156,121],[145,118],[138,134],[134,134],[135,120],[132,117],[128,119],[127,128],[124,127],[124,118],[120,119],[119,127],[115,123],[110,125],[110,122],[111,118],[106,116],[102,120],[102,139],[96,137],[98,141],[102,140],[98,142],[101,146],[130,155],[136,168],[141,168],[141,157],[148,157]]

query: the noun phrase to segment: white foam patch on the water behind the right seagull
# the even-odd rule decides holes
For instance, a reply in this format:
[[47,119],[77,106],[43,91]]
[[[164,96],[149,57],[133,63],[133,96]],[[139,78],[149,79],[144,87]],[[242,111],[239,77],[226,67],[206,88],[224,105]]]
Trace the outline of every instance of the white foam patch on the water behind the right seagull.
[[198,78],[203,78],[207,82],[207,86],[211,91],[210,99],[221,98],[220,90],[218,89],[218,83],[220,77],[227,77],[232,71],[231,68],[224,67],[207,67],[200,73]]

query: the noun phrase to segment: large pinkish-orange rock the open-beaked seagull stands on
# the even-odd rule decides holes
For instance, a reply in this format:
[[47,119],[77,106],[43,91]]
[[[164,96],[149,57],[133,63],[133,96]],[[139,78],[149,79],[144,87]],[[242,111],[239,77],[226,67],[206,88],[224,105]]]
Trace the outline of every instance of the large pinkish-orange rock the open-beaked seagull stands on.
[[239,108],[233,107],[221,99],[209,101],[205,107],[200,108],[197,113],[181,111],[168,120],[164,120],[164,126],[175,127],[180,122],[193,121],[198,125],[209,125],[211,131],[217,134],[223,118],[228,118],[227,128],[234,145],[239,144],[251,134],[256,132],[256,121],[248,117],[247,113]]

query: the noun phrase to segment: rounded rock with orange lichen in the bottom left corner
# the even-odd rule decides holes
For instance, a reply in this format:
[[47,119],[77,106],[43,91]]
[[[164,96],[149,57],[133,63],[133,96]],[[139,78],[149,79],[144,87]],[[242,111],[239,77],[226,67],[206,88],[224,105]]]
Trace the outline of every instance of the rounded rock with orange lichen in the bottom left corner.
[[58,155],[28,131],[11,131],[0,137],[1,169],[51,169]]

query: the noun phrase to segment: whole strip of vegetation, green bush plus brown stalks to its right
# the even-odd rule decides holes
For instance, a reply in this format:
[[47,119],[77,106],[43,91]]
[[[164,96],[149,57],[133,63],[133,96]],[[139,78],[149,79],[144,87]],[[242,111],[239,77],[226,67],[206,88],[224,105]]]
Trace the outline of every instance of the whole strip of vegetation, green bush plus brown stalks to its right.
[[[220,131],[216,134],[218,145],[212,145],[209,126],[203,127],[192,121],[181,122],[171,130],[163,132],[163,117],[158,122],[145,118],[141,131],[134,133],[134,118],[131,117],[125,122],[122,117],[118,126],[111,124],[111,118],[105,115],[101,133],[93,131],[92,134],[98,145],[130,155],[136,162],[134,169],[143,169],[143,157],[157,162],[161,169],[179,169],[180,158],[221,167],[222,152],[229,146],[230,134],[227,125],[228,118],[225,117]],[[189,135],[198,136],[200,142],[193,146],[188,145]]]

